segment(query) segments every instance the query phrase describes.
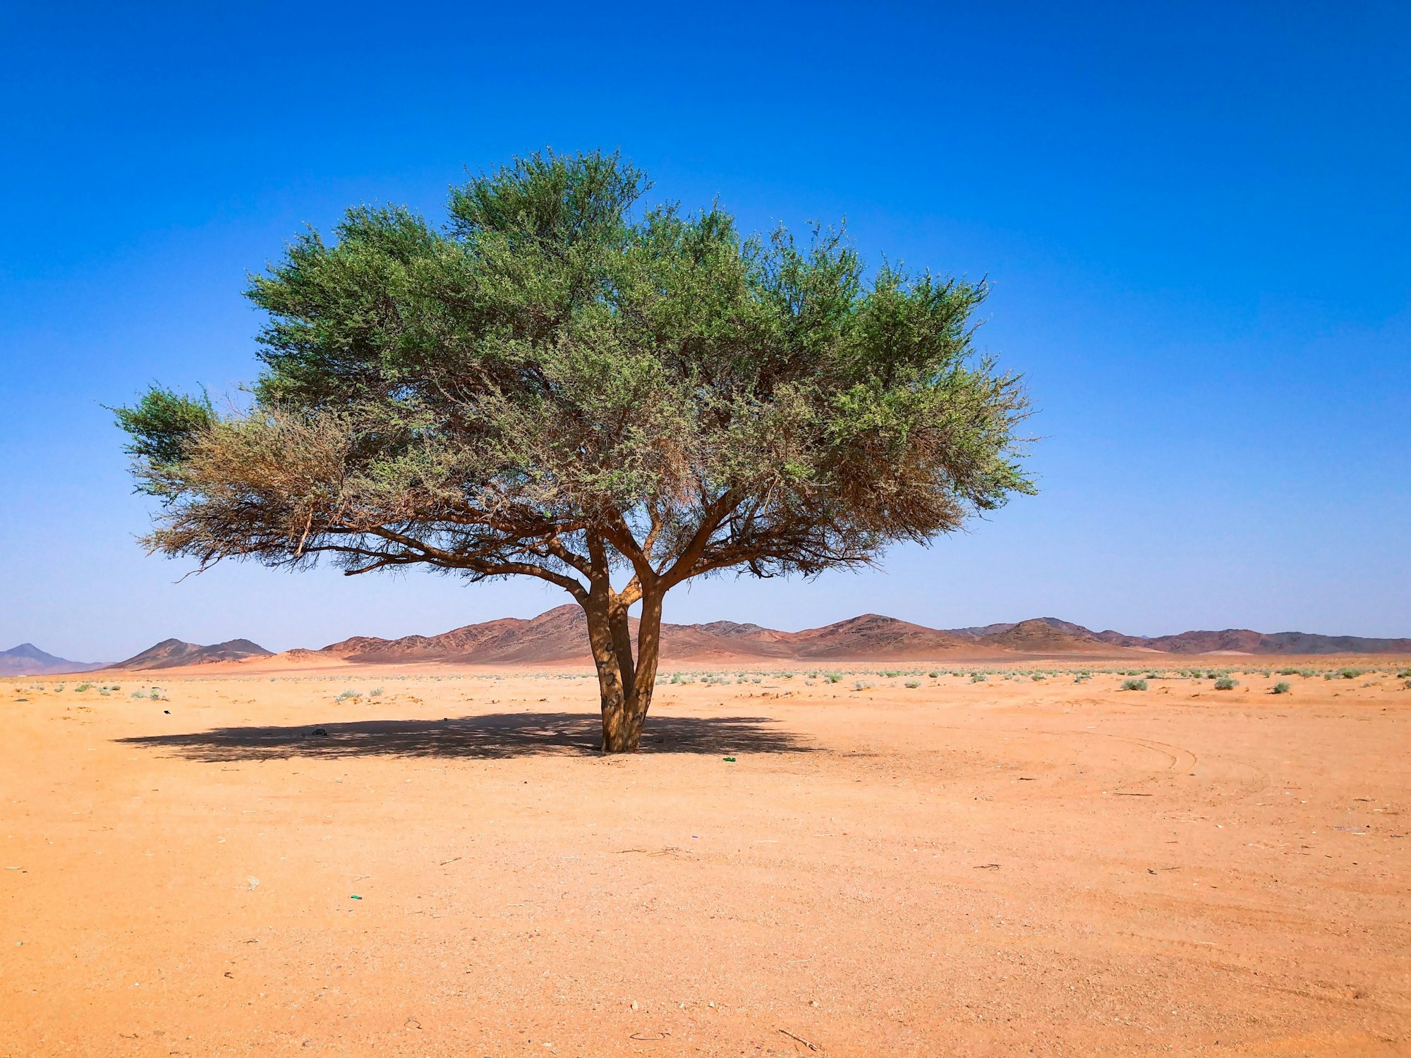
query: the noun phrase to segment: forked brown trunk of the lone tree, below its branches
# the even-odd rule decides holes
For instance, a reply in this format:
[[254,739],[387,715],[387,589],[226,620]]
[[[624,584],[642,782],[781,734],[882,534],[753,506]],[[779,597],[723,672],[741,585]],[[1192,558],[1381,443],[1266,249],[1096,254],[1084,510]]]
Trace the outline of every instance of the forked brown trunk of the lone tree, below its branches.
[[652,707],[652,690],[656,686],[662,597],[649,594],[642,598],[635,659],[625,607],[594,592],[590,594],[584,612],[602,698],[602,752],[631,753],[642,742],[642,725]]

